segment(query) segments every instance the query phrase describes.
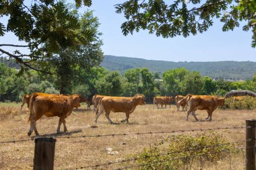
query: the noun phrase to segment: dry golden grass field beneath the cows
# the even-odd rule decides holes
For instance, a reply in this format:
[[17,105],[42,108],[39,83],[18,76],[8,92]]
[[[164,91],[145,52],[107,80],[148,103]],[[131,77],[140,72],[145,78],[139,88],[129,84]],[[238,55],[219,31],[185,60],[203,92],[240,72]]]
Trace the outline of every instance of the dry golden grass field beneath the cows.
[[[245,126],[245,119],[256,117],[256,110],[216,110],[212,122],[205,121],[207,113],[198,111],[195,122],[193,116],[185,121],[186,112],[177,112],[176,107],[156,109],[153,105],[139,105],[129,118],[130,124],[109,124],[104,115],[100,116],[98,123],[94,123],[95,114],[87,111],[85,105],[79,110],[73,110],[66,119],[67,133],[55,134],[59,119],[43,117],[37,122],[37,129],[41,135],[55,136],[55,169],[75,169],[89,165],[120,161],[141,153],[143,148],[171,135],[142,134],[125,136],[79,137],[61,138],[63,136],[87,136],[94,134],[123,134],[133,132],[162,132],[172,130],[191,130],[205,128],[224,128]],[[27,132],[29,111],[24,107],[20,113],[20,105],[0,105],[0,141],[30,139]],[[113,122],[120,122],[125,118],[124,113],[110,113]],[[98,128],[94,128],[97,126]],[[61,126],[63,131],[63,126]],[[228,142],[245,140],[245,128],[218,130],[226,136]],[[175,133],[181,134],[183,132]],[[184,132],[184,134],[199,132]],[[34,132],[32,134],[34,137]],[[244,147],[245,142],[237,142],[236,146]],[[115,154],[108,153],[112,148]],[[34,140],[24,142],[0,143],[0,169],[32,169],[34,158]],[[214,164],[206,164],[203,169],[244,169],[244,154],[230,155],[228,159]],[[134,165],[133,162],[103,165],[86,169],[118,169]],[[135,169],[135,168],[131,168]],[[192,169],[200,169],[194,163]]]

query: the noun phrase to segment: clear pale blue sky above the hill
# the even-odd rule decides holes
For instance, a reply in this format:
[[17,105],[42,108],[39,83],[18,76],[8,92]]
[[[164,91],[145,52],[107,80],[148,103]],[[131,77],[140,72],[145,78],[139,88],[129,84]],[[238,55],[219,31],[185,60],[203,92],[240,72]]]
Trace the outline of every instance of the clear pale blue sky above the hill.
[[[70,1],[70,0],[69,0]],[[73,2],[73,0],[72,0]],[[234,31],[222,32],[222,23],[214,22],[207,32],[183,38],[157,37],[148,34],[148,30],[140,30],[133,35],[123,36],[121,24],[125,22],[123,14],[115,13],[114,5],[121,3],[119,0],[92,1],[89,9],[94,10],[98,17],[100,32],[104,45],[104,54],[115,56],[129,56],[149,60],[169,61],[256,61],[256,49],[251,48],[251,32],[243,32],[240,28]],[[86,7],[80,9],[85,11]],[[17,38],[12,34],[0,37],[1,43],[18,44]]]

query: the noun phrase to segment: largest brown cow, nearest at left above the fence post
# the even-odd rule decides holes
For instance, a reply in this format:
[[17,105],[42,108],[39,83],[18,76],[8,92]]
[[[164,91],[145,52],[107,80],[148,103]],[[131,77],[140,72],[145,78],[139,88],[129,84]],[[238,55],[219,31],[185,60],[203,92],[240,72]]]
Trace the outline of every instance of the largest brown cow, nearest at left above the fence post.
[[54,95],[46,93],[33,93],[30,97],[30,130],[28,136],[30,136],[34,130],[36,135],[38,131],[36,129],[36,120],[39,120],[43,115],[47,117],[58,116],[59,125],[57,127],[57,133],[59,133],[61,124],[64,126],[64,132],[67,132],[65,118],[69,116],[73,108],[79,107],[78,95]]

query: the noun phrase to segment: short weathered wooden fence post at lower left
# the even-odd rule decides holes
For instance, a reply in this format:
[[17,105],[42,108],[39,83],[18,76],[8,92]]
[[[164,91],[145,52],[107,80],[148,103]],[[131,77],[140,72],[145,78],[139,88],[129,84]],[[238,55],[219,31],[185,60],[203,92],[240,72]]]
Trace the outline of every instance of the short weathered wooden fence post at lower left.
[[51,170],[54,165],[55,138],[36,138],[34,140],[34,170]]

